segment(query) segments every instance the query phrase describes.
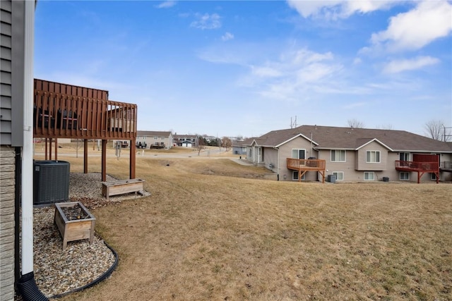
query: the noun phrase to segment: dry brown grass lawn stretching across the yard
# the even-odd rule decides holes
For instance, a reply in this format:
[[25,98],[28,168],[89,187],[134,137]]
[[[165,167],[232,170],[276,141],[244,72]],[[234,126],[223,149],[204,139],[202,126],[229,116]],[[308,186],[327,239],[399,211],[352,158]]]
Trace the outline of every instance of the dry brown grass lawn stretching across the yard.
[[61,300],[451,300],[451,184],[278,182],[229,159],[136,168],[152,195],[93,211],[117,270]]

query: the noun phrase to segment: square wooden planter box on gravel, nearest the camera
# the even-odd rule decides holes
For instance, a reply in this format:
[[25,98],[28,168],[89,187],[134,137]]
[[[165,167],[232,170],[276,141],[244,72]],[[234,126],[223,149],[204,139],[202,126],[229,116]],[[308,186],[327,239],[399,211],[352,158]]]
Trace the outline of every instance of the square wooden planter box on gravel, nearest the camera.
[[[64,213],[65,208],[81,210],[81,219],[69,219]],[[85,218],[83,218],[85,217]],[[93,214],[86,209],[81,202],[66,202],[55,204],[55,217],[54,223],[61,233],[63,238],[63,250],[69,241],[89,239],[90,244],[94,240],[94,227],[96,219]]]

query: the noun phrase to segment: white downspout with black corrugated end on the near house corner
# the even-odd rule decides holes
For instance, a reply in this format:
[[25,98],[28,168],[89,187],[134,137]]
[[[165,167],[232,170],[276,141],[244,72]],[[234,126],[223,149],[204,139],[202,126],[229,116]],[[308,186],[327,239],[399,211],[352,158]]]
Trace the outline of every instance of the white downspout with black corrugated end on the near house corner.
[[[35,1],[25,2],[25,55],[23,74],[23,147],[22,147],[22,276],[18,289],[23,300],[46,301],[47,297],[37,288],[33,273],[33,195],[29,183],[33,183],[33,47],[35,36]],[[27,185],[25,185],[25,183]]]

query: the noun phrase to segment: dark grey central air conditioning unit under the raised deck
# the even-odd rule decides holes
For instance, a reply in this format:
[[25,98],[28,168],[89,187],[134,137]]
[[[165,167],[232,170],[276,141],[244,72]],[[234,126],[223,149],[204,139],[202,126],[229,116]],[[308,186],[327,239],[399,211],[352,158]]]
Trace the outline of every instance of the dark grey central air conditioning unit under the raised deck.
[[35,161],[33,168],[33,204],[52,204],[69,199],[69,162]]

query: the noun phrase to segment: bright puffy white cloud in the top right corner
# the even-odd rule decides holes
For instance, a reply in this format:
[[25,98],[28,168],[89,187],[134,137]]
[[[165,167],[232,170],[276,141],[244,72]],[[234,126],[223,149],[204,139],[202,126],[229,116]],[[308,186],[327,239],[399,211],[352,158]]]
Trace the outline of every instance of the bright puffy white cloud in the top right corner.
[[407,13],[390,19],[387,30],[374,33],[372,47],[364,50],[417,50],[452,31],[452,5],[448,1],[422,1]]

